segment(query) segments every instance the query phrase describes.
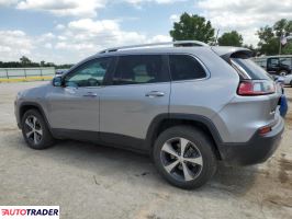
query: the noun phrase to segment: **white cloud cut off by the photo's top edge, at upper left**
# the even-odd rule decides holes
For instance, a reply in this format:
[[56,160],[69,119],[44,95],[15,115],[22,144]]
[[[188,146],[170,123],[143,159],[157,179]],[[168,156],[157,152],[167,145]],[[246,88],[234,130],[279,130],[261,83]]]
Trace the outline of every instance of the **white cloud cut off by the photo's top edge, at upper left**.
[[21,0],[16,8],[21,10],[41,10],[55,15],[93,18],[97,10],[105,7],[108,0]]

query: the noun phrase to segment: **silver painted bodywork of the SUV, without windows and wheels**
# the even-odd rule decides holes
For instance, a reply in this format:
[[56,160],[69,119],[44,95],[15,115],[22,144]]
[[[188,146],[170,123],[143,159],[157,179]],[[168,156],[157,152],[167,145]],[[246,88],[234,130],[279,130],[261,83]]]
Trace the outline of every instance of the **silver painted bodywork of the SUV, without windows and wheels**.
[[157,115],[179,113],[207,117],[224,142],[246,142],[259,127],[279,119],[276,107],[280,92],[265,96],[238,96],[238,73],[217,54],[237,51],[239,48],[223,47],[216,50],[217,54],[213,49],[143,48],[91,56],[67,73],[98,57],[189,54],[204,65],[210,76],[201,80],[78,89],[56,88],[49,83],[18,96],[18,123],[21,104],[33,102],[42,106],[52,128],[104,131],[144,139]]

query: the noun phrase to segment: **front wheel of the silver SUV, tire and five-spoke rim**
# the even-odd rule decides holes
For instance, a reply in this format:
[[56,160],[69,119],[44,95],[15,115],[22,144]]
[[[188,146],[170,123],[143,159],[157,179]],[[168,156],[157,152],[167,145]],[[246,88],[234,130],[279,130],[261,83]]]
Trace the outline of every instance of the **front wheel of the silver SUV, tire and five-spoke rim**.
[[54,138],[38,111],[25,112],[21,123],[23,138],[30,148],[42,150],[54,145]]

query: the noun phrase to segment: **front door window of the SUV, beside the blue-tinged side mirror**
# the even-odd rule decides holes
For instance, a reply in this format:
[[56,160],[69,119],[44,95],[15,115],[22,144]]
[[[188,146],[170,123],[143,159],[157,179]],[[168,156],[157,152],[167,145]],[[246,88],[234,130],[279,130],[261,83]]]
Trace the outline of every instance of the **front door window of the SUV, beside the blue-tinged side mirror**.
[[83,64],[65,78],[66,87],[98,87],[109,69],[111,58],[100,58]]

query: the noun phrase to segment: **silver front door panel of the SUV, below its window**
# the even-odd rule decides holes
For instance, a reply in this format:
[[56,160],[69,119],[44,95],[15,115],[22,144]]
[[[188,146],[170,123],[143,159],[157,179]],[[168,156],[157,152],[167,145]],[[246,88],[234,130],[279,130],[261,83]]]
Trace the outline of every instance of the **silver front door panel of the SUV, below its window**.
[[54,88],[46,95],[52,128],[99,131],[100,88]]

